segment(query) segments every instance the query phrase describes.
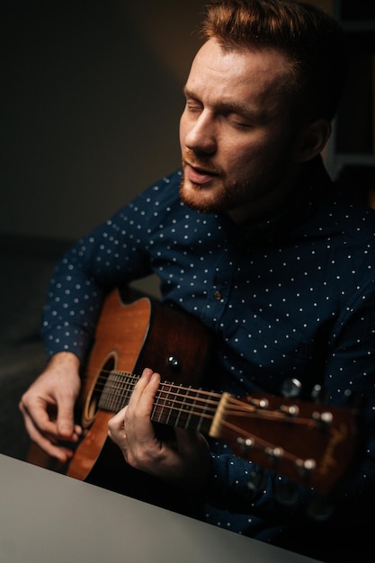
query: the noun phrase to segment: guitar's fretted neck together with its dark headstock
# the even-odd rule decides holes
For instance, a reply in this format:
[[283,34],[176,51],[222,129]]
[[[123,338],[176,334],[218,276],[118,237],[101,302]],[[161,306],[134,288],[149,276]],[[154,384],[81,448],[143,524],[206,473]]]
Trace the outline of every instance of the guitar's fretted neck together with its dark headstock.
[[[121,410],[138,380],[139,376],[111,371],[98,407]],[[271,395],[238,399],[164,381],[157,389],[151,420],[223,440],[239,457],[322,494],[344,474],[354,451],[353,411]]]

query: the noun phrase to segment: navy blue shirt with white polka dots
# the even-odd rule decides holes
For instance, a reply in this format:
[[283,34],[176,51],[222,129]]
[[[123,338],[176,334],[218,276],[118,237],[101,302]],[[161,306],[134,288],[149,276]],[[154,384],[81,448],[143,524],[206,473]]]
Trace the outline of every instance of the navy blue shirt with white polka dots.
[[[306,166],[289,209],[257,224],[189,209],[180,182],[179,171],[153,184],[67,252],[45,307],[49,354],[83,358],[105,292],[156,273],[164,301],[215,334],[219,391],[279,395],[296,378],[302,398],[316,383],[336,405],[346,389],[366,396],[362,463],[341,506],[362,505],[375,484],[375,211],[337,192],[320,159]],[[291,517],[273,495],[282,479],[266,471],[254,491],[258,468],[210,445],[205,520],[272,541]],[[299,493],[296,518],[311,494]]]

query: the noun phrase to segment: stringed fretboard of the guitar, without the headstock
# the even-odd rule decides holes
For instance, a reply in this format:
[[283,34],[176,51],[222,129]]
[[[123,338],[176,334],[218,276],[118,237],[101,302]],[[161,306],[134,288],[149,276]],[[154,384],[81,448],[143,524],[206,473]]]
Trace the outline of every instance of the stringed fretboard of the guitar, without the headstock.
[[[114,413],[129,403],[139,380],[138,375],[111,371],[103,386],[99,408]],[[151,420],[168,426],[180,427],[208,434],[221,395],[162,382],[156,392]]]

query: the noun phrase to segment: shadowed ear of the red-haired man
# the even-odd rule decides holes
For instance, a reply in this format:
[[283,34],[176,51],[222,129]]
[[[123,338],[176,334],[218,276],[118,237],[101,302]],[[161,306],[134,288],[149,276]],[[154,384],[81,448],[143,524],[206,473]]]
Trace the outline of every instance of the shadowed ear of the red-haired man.
[[295,158],[299,163],[308,162],[322,152],[331,135],[331,123],[319,119],[308,123],[299,134],[296,143]]

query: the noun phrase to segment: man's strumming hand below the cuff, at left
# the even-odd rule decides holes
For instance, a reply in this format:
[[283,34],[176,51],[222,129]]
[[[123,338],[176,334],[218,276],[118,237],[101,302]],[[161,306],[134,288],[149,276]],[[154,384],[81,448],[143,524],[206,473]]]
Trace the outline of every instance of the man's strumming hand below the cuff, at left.
[[20,402],[31,440],[62,463],[73,456],[73,450],[61,442],[76,443],[82,434],[82,428],[74,422],[80,386],[78,358],[74,353],[60,352],[51,358]]

